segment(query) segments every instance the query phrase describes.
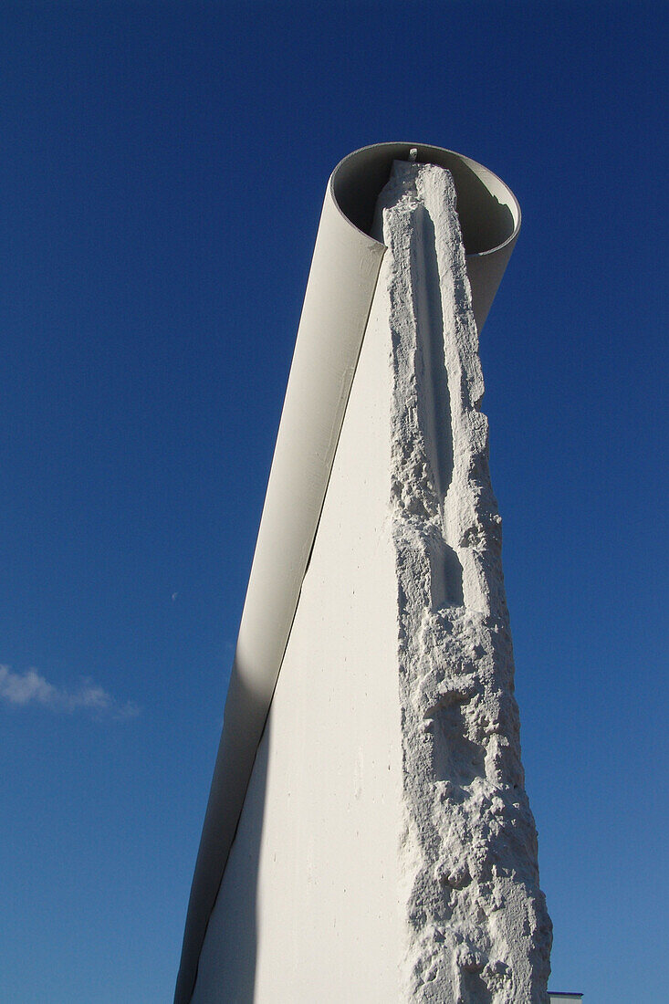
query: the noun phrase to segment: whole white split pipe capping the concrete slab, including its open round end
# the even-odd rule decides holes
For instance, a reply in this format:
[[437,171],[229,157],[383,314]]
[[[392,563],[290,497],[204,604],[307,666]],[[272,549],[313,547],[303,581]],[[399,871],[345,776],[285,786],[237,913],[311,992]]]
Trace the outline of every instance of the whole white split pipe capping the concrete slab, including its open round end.
[[221,744],[184,935],[176,1004],[188,1004],[244,804],[320,518],[385,247],[369,236],[394,160],[448,168],[458,196],[474,315],[487,316],[520,225],[516,200],[481,165],[419,144],[346,158],[329,180],[239,630]]

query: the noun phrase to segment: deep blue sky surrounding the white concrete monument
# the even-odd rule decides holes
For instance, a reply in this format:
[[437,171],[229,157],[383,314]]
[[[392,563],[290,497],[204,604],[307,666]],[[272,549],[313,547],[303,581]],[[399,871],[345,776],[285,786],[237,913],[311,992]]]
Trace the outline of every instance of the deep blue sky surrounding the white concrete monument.
[[395,139],[523,211],[481,351],[551,986],[663,999],[666,28],[2,4],[0,999],[171,999],[324,185]]

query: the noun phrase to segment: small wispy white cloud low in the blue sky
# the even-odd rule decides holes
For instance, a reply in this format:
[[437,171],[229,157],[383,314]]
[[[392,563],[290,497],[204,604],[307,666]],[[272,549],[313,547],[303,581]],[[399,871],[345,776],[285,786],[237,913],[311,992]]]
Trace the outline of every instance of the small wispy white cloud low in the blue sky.
[[9,666],[0,666],[0,700],[14,708],[40,705],[67,714],[84,711],[112,718],[136,718],[140,713],[136,704],[120,703],[90,680],[83,680],[75,690],[66,690],[50,684],[37,670],[13,673]]

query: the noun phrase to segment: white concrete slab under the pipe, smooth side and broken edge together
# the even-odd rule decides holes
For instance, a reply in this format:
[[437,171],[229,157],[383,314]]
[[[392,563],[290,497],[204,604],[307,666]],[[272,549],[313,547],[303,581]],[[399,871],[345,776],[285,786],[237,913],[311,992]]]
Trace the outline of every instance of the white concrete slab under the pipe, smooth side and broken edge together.
[[402,164],[196,1004],[544,1004],[477,334],[450,176]]

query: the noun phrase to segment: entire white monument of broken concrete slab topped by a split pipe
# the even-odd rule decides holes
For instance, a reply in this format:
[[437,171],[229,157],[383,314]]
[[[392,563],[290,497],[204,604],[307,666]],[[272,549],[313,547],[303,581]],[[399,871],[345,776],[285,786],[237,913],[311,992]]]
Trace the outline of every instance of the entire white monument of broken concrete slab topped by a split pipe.
[[177,1004],[547,1004],[478,358],[518,227],[439,148],[330,179]]

